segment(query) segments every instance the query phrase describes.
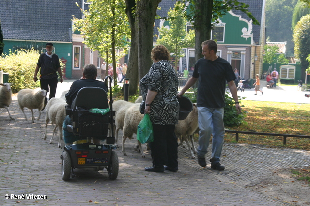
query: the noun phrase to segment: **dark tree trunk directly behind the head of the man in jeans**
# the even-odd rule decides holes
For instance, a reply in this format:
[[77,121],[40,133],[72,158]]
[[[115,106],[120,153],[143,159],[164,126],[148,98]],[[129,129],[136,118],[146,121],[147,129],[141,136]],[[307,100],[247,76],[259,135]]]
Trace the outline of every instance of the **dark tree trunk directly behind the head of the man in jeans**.
[[196,0],[195,28],[195,60],[199,60],[202,55],[202,42],[211,39],[211,21],[213,0]]

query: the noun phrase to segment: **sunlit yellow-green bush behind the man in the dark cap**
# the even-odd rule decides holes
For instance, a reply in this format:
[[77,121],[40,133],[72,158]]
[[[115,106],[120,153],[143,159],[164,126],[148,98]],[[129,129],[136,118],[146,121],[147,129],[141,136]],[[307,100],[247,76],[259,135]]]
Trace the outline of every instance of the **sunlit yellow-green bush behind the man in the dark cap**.
[[[9,83],[12,83],[12,93],[21,89],[40,87],[40,81],[34,82],[33,75],[40,53],[37,50],[17,50],[0,57],[0,70],[9,73]],[[63,69],[63,63],[61,63]]]

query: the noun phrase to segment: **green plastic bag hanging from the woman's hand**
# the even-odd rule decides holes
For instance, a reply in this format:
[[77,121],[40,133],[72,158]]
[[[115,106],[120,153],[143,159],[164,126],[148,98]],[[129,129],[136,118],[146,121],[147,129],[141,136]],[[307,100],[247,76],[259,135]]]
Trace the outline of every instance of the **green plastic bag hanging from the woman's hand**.
[[154,141],[153,126],[149,114],[144,114],[143,119],[138,125],[137,140],[142,144]]

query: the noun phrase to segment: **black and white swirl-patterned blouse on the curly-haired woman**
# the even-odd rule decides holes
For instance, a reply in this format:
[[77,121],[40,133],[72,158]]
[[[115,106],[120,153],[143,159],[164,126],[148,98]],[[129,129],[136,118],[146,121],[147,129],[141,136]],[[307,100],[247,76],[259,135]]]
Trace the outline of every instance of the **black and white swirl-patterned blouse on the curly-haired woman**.
[[175,125],[179,118],[178,77],[166,60],[153,63],[149,72],[140,80],[140,90],[145,100],[148,90],[157,92],[150,119],[156,125]]

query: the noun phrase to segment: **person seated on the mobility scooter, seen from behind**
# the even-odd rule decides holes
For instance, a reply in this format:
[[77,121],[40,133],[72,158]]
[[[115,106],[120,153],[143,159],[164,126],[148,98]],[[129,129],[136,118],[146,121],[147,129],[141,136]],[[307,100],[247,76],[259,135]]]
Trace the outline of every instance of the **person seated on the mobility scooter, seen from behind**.
[[[83,87],[100,87],[108,92],[108,88],[104,82],[96,80],[97,78],[97,67],[93,64],[85,65],[83,69],[83,79],[76,80],[72,83],[70,90],[65,94],[66,102],[70,106],[72,105],[73,100],[78,95],[78,91]],[[63,139],[64,142],[70,144],[74,142],[74,134],[69,132],[67,125],[71,124],[71,118],[66,116],[63,122]],[[99,144],[100,140],[93,139],[94,144]]]

